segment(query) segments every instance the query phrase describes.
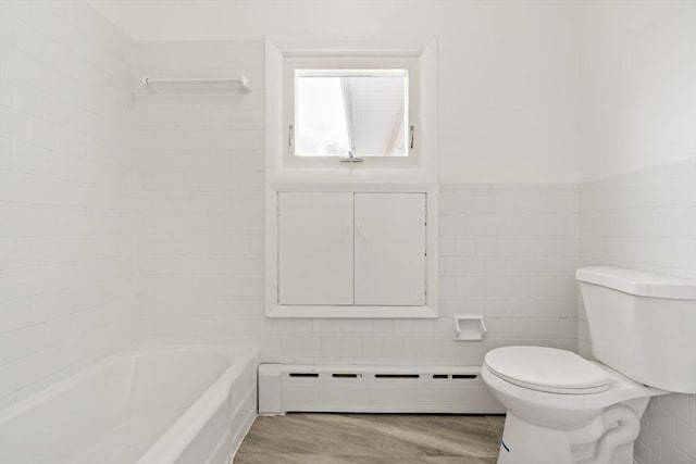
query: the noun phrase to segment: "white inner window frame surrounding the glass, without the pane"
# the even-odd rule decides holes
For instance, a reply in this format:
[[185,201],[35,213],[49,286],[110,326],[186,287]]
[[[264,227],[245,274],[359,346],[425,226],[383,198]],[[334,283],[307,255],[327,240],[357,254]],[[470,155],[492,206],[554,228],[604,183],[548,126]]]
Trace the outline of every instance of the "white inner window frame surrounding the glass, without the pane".
[[[297,155],[295,154],[298,126],[297,126],[297,76],[298,70],[407,70],[408,71],[408,121],[407,127],[407,155],[366,155],[356,158],[362,160],[361,165],[376,168],[414,168],[421,163],[418,143],[418,130],[420,121],[420,76],[419,59],[409,55],[288,55],[284,58],[283,70],[283,129],[287,134],[287,143],[283,149],[283,163],[288,168],[325,167],[332,168],[339,165],[345,156],[336,155]],[[413,134],[411,134],[411,130]],[[413,147],[411,148],[411,137]],[[352,164],[352,163],[350,163]]]

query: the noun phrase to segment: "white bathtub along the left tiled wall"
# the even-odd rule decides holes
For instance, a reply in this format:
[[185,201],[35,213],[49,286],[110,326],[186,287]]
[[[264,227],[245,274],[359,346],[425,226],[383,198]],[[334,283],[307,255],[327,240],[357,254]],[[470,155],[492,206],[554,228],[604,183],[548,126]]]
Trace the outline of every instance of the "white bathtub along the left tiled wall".
[[256,417],[257,352],[142,349],[0,412],[2,464],[228,463]]

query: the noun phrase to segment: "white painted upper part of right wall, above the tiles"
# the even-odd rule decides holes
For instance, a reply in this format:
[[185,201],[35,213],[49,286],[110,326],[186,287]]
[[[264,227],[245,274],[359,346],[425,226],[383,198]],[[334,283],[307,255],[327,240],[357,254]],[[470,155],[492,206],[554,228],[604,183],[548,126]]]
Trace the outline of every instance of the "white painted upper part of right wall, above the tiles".
[[580,10],[580,179],[696,155],[696,2]]

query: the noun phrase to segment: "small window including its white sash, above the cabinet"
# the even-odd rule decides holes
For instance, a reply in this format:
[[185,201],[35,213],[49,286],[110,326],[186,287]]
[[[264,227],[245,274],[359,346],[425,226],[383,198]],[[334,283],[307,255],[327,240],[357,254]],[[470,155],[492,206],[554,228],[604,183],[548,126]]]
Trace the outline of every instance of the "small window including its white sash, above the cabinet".
[[344,161],[415,154],[417,66],[405,58],[288,58],[287,154]]

